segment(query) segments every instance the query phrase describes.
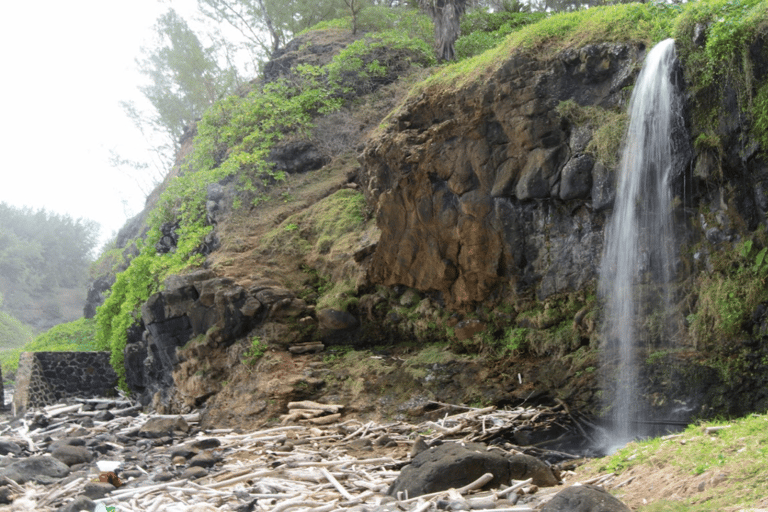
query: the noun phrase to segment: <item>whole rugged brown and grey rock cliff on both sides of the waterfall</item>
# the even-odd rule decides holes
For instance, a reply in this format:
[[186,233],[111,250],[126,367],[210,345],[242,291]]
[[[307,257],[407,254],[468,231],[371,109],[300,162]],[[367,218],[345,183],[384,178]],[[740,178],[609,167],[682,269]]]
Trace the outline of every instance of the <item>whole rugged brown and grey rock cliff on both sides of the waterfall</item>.
[[[351,42],[307,37],[268,78],[328,61],[303,48]],[[753,95],[766,82],[767,41],[762,30],[739,64]],[[682,57],[702,44],[681,41]],[[236,180],[211,184],[206,268],[170,278],[143,305],[125,351],[128,385],[160,410],[207,407],[212,424],[266,421],[291,399],[323,398],[395,417],[428,414],[435,400],[558,399],[596,414],[595,283],[626,102],[647,50],[640,41],[514,50],[414,87],[387,75],[358,91],[357,110],[320,117],[310,136],[274,148],[271,161],[295,180],[280,201],[238,209]],[[428,74],[406,60],[393,64],[397,76]],[[671,337],[645,326],[639,350],[641,393],[668,412],[685,389],[690,416],[732,412],[725,397],[761,383],[755,347],[768,308],[739,310],[740,334],[721,343],[728,331],[707,294],[738,293],[725,288],[736,282],[726,283],[728,269],[764,245],[768,164],[740,106],[743,83],[716,84],[715,94],[686,62],[676,71],[687,106],[671,184],[682,235],[677,325]],[[739,245],[747,238],[753,252]],[[697,330],[705,325],[709,338]],[[727,371],[712,362],[724,359]],[[765,400],[751,393],[742,405]]]

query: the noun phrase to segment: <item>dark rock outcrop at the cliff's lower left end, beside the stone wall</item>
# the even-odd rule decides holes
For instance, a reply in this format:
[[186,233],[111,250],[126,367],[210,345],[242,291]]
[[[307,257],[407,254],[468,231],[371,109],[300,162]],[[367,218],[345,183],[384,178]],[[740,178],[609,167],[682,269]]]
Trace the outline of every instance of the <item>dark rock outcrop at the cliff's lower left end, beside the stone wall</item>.
[[[246,289],[210,270],[170,276],[129,329],[126,383],[142,404],[156,410],[200,406],[231,370],[232,344],[267,321],[294,321],[308,313],[303,300],[269,279]],[[284,341],[294,340],[286,335]]]

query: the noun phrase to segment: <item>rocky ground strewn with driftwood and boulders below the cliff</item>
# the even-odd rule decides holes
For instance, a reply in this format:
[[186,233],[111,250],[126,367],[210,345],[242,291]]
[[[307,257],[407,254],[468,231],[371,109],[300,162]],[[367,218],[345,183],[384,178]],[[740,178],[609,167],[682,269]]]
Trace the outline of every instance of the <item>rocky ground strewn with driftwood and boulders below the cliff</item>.
[[[36,511],[98,503],[134,511],[552,511],[569,510],[557,505],[568,489],[618,507],[601,510],[627,510],[601,488],[577,485],[575,456],[500,441],[564,411],[443,408],[437,421],[379,424],[348,418],[341,405],[296,402],[280,423],[247,432],[203,429],[197,413],[147,415],[128,400],[78,400],[6,415],[0,500],[7,510]],[[619,483],[611,474],[589,481]]]

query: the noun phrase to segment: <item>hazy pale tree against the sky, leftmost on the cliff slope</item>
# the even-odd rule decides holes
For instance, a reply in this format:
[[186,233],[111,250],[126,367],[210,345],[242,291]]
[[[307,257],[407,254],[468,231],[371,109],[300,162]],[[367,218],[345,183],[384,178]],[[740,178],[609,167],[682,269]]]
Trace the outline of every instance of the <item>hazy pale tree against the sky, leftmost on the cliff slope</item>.
[[[149,84],[139,90],[154,112],[146,114],[133,102],[122,102],[122,106],[148,141],[155,139],[153,133],[162,134],[162,142],[152,145],[167,171],[185,131],[214,101],[234,90],[238,76],[234,67],[219,66],[220,47],[204,47],[173,9],[158,18],[155,28],[157,47],[144,49],[144,57],[136,61],[139,71],[149,78]],[[119,157],[115,161],[129,163]],[[140,168],[145,164],[129,165]]]

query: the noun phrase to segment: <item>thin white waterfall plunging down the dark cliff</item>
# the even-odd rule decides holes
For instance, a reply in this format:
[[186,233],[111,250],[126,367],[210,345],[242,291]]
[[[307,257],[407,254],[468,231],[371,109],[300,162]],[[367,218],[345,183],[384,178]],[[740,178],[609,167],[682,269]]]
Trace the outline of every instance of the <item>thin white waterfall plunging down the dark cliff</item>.
[[639,396],[638,341],[647,336],[650,312],[658,317],[670,310],[664,285],[676,262],[670,181],[681,112],[675,61],[674,40],[667,39],[650,51],[640,72],[606,230],[599,292],[605,300],[603,367],[611,368],[604,383],[612,424],[607,442],[613,446],[643,435],[639,425],[649,418]]

